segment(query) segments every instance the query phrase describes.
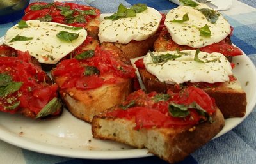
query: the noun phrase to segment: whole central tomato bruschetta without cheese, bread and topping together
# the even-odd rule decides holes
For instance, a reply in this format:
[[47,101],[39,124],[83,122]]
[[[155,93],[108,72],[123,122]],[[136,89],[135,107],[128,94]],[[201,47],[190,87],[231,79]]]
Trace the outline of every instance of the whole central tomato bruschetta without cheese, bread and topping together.
[[[89,46],[90,44],[93,45]],[[93,74],[92,76],[96,76],[98,80],[103,80],[102,85],[97,86],[99,84],[98,81],[91,80],[87,84],[92,87],[68,86],[63,88],[62,85],[65,82],[68,83],[69,80],[72,80],[69,76],[72,76],[74,71],[79,71],[81,68],[74,66],[75,70],[70,70],[73,66],[72,64],[72,66],[65,66],[67,73],[69,73],[68,75],[55,75],[54,72],[56,70],[63,69],[60,63],[60,66],[57,65],[57,68],[51,71],[52,78],[60,87],[60,96],[69,112],[88,123],[92,122],[95,114],[99,114],[123,101],[132,92],[132,79],[135,77],[135,70],[132,68],[131,62],[123,57],[122,54],[97,46],[94,42],[90,44],[73,52],[72,56],[76,57],[81,52],[90,51],[95,46],[95,55],[86,59],[77,59],[78,63],[76,64],[81,64],[85,70],[87,66],[97,69],[98,74]],[[63,62],[65,63],[68,60],[72,59],[67,59]],[[84,82],[83,85],[87,85],[86,78],[90,80],[92,76],[85,75],[84,72],[81,75],[79,74],[79,78],[76,77],[76,81]]]

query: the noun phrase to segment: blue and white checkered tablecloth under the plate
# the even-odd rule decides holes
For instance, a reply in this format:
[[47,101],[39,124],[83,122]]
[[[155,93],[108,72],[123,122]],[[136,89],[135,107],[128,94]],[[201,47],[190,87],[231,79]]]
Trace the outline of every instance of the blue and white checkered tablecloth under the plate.
[[[32,0],[35,1],[35,0]],[[51,0],[45,0],[50,2]],[[241,3],[244,1],[244,3]],[[245,54],[256,64],[256,2],[255,0],[233,0],[232,7],[227,11],[221,11],[230,24],[234,27],[232,42],[241,48]],[[131,6],[136,3],[146,3],[159,11],[167,12],[177,5],[168,0],[76,0],[72,1],[99,8],[102,13],[113,13],[120,3]],[[253,6],[253,7],[252,7]],[[4,36],[7,29],[17,24],[19,20],[8,24],[0,24],[0,37]],[[255,86],[256,92],[256,86]],[[255,100],[256,101],[256,100]],[[98,164],[98,163],[166,163],[156,156],[144,158],[131,158],[119,160],[90,160],[65,158],[41,154],[0,140],[0,164]],[[254,164],[256,163],[256,110],[233,130],[216,138],[191,154],[182,164]],[[180,164],[181,164],[180,163]]]

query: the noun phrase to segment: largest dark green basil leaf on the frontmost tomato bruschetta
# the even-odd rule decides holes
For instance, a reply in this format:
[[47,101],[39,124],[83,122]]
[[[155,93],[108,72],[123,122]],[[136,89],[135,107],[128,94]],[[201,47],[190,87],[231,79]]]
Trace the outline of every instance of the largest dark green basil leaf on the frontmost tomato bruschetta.
[[170,103],[168,110],[173,117],[186,117],[190,114],[188,107],[183,104]]

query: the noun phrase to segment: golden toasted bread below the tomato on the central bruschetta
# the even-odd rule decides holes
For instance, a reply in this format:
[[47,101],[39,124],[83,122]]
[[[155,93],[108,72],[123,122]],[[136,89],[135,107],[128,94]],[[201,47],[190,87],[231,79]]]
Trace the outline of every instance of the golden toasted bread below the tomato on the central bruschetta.
[[[54,80],[60,84],[61,79]],[[131,79],[123,79],[116,84],[104,84],[96,89],[60,89],[60,95],[72,115],[90,123],[95,114],[120,103],[131,91]]]

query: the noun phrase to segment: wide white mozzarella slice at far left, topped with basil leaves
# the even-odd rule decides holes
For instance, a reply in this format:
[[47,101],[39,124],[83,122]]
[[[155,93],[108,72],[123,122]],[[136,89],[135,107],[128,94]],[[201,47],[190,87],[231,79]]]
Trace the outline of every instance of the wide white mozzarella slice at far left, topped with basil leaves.
[[[29,54],[40,63],[56,64],[64,56],[79,47],[86,40],[85,29],[74,29],[72,26],[54,22],[40,22],[39,20],[28,20],[27,28],[20,29],[18,25],[13,26],[6,32],[4,44],[20,51],[29,51]],[[78,38],[72,41],[64,41],[56,35],[60,31],[79,34]],[[33,38],[28,41],[13,41],[15,36]]]

